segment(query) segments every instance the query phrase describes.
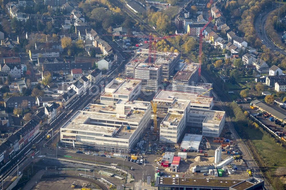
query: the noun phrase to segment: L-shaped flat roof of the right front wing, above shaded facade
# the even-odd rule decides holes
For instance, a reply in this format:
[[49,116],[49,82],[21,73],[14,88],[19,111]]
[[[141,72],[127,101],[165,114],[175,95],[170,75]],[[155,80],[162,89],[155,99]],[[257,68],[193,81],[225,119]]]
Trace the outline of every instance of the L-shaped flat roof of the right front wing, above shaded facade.
[[198,114],[205,116],[203,124],[207,123],[219,125],[225,112],[217,110],[190,109],[188,114]]

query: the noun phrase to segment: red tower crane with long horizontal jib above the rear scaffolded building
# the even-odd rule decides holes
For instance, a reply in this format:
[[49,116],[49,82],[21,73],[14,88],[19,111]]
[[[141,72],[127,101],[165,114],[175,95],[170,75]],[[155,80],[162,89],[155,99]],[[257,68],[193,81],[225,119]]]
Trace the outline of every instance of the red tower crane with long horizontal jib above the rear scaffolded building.
[[144,43],[148,43],[149,44],[149,53],[148,53],[148,63],[151,64],[151,55],[152,55],[152,43],[154,43],[154,60],[153,60],[153,63],[155,63],[155,60],[156,60],[156,43],[158,40],[161,40],[161,39],[167,39],[167,38],[171,38],[171,37],[174,37],[174,36],[177,36],[176,34],[175,35],[170,35],[170,36],[164,36],[164,37],[154,37],[152,35],[149,35],[149,36],[134,36],[134,35],[113,35],[113,34],[104,34],[104,36],[122,36],[122,37],[130,37],[130,38],[145,38],[145,39],[149,39],[149,41],[144,41]]

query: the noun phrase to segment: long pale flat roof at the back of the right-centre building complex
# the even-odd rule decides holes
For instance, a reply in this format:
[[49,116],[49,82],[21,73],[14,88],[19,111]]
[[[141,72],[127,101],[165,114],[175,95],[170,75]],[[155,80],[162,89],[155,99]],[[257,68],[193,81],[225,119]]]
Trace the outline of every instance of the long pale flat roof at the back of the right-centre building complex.
[[160,90],[157,92],[153,100],[159,102],[174,102],[175,99],[178,100],[188,100],[192,103],[198,104],[210,104],[213,100],[212,97],[198,97],[198,94],[190,94],[184,92],[174,92],[174,91],[163,91]]

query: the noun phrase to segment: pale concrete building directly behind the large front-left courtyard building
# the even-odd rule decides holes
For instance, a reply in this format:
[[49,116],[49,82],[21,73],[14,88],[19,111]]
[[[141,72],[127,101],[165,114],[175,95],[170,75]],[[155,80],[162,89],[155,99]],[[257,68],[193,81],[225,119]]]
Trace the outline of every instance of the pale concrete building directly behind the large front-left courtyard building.
[[100,103],[115,105],[119,100],[133,101],[141,93],[141,80],[115,78],[104,88],[100,96]]

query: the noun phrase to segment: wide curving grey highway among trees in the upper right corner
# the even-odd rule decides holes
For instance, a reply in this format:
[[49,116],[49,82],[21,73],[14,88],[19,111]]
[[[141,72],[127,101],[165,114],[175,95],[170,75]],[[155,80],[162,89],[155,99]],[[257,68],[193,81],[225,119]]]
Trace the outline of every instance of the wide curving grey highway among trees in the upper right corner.
[[[276,9],[279,4],[278,3],[274,3],[275,5],[273,6],[273,10]],[[280,5],[282,6],[282,5]],[[266,47],[271,48],[272,51],[277,51],[277,52],[281,52],[281,54],[286,55],[286,51],[281,49],[280,47],[278,47],[277,45],[275,45],[271,39],[269,38],[269,36],[266,33],[265,30],[265,24],[266,24],[266,19],[269,15],[269,13],[271,13],[272,11],[272,7],[269,6],[268,9],[265,9],[266,11],[261,11],[260,14],[257,17],[255,17],[255,21],[254,21],[254,28],[257,31],[258,37],[264,41],[264,45],[266,45]]]

